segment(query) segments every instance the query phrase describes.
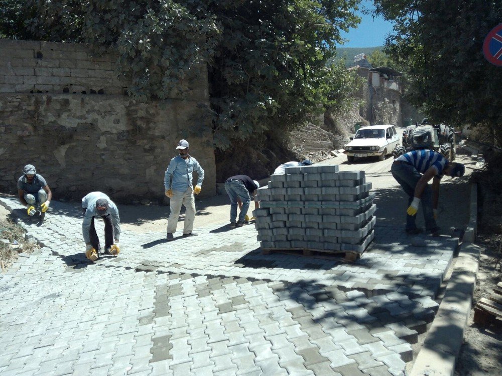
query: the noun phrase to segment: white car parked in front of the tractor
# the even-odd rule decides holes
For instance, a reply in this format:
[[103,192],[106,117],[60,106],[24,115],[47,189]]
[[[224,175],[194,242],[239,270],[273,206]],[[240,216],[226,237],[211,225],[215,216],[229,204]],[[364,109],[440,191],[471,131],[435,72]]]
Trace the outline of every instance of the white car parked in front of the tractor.
[[378,156],[379,160],[384,160],[386,155],[399,145],[399,141],[394,125],[370,125],[359,128],[354,137],[350,137],[350,142],[344,147],[344,153],[349,162],[354,158],[370,156]]

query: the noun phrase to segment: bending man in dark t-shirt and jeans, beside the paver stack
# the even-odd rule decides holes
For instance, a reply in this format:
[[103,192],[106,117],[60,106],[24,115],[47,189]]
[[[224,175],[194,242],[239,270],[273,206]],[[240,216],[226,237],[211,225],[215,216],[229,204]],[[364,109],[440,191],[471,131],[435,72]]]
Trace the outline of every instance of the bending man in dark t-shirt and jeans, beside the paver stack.
[[[249,220],[247,210],[251,202],[251,196],[255,197],[255,209],[260,207],[256,190],[260,183],[252,180],[247,175],[235,175],[225,181],[225,191],[230,198],[230,227],[244,226],[244,221]],[[237,220],[237,204],[240,208],[239,220]]]

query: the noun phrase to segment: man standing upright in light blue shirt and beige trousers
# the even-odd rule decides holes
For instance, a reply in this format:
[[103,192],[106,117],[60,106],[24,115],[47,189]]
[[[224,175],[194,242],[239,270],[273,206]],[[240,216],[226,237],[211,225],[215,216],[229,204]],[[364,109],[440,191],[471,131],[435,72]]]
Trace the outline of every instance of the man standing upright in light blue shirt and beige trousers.
[[[193,221],[195,220],[195,195],[200,193],[202,180],[204,180],[204,170],[197,160],[188,154],[188,141],[180,140],[176,147],[179,155],[171,159],[164,175],[164,187],[166,196],[169,197],[169,207],[171,214],[167,222],[167,240],[174,239],[173,234],[178,226],[181,205],[185,206],[185,225],[183,226],[183,237],[195,236]],[[195,187],[192,185],[193,171],[197,171],[199,178]]]

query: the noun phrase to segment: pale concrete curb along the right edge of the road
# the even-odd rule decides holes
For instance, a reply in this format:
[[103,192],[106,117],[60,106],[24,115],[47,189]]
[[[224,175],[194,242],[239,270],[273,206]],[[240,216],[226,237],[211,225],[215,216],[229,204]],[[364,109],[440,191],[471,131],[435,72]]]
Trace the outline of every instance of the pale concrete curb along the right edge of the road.
[[[453,376],[476,287],[480,248],[472,242],[477,226],[477,185],[471,187],[470,218],[444,298],[413,364],[410,376]],[[469,239],[469,240],[468,240]]]

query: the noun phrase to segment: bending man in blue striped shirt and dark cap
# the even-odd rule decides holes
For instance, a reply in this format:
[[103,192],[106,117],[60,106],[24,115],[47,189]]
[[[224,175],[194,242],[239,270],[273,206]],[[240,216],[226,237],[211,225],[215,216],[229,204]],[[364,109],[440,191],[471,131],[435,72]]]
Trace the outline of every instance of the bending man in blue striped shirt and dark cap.
[[[440,153],[433,150],[413,150],[398,158],[392,164],[391,172],[409,196],[406,211],[406,232],[418,234],[415,224],[420,202],[424,212],[425,228],[432,235],[439,236],[436,224],[438,217],[439,183],[446,174],[451,177],[463,176],[465,166],[462,163],[450,162]],[[432,189],[428,182],[432,179]]]

